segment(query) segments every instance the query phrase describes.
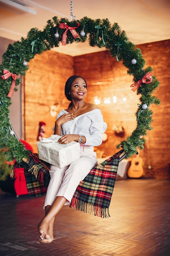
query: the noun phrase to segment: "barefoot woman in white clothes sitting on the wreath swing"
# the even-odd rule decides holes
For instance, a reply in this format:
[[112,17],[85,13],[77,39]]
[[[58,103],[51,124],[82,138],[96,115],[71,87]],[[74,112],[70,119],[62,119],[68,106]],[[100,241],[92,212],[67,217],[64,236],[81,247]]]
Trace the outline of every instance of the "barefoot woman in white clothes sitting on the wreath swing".
[[58,141],[61,144],[79,142],[80,158],[64,168],[50,167],[51,179],[44,203],[45,216],[38,225],[40,243],[53,241],[56,214],[64,204],[69,204],[79,182],[97,163],[94,146],[102,144],[107,125],[98,106],[84,101],[86,93],[87,84],[81,76],[74,75],[66,81],[65,96],[71,103],[58,114],[54,134],[62,136]]

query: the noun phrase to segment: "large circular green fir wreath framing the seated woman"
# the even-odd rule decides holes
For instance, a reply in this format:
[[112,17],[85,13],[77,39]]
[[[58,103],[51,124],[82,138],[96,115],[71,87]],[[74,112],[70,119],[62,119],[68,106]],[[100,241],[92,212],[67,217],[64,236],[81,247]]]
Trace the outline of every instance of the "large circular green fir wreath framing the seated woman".
[[[75,31],[78,37],[75,39],[71,30],[66,32],[65,28],[60,28],[60,23],[70,27],[76,27]],[[81,20],[69,22],[66,18],[58,20],[53,17],[47,21],[43,31],[37,28],[31,29],[27,37],[21,38],[20,41],[9,44],[7,51],[2,56],[2,65],[0,65],[0,149],[4,150],[4,155],[8,161],[16,159],[18,163],[22,162],[23,157],[27,157],[30,153],[26,150],[20,140],[15,135],[9,117],[9,106],[11,97],[8,97],[11,84],[15,75],[24,76],[28,66],[26,63],[30,61],[36,54],[41,54],[53,47],[59,47],[63,40],[63,34],[66,32],[66,44],[77,42],[85,42],[88,38],[89,45],[94,47],[106,47],[110,51],[112,57],[117,58],[117,61],[122,61],[127,68],[127,74],[133,76],[133,82],[139,84],[137,94],[141,94],[139,99],[141,104],[138,104],[136,112],[137,127],[126,140],[121,141],[117,148],[122,147],[127,154],[127,158],[137,152],[137,148],[143,149],[147,130],[151,130],[150,123],[152,122],[152,110],[149,109],[150,104],[159,105],[160,101],[157,97],[152,96],[152,92],[159,86],[159,81],[155,76],[152,79],[144,82],[143,79],[148,72],[152,71],[152,67],[144,69],[145,60],[142,58],[141,50],[135,49],[125,31],[122,31],[117,23],[110,24],[108,19],[96,19],[84,17]],[[81,33],[82,32],[82,33]],[[25,61],[25,62],[24,62]],[[8,70],[12,75],[7,79],[2,79],[4,70]],[[15,77],[16,79],[16,77]],[[15,91],[20,83],[20,79],[15,80]]]

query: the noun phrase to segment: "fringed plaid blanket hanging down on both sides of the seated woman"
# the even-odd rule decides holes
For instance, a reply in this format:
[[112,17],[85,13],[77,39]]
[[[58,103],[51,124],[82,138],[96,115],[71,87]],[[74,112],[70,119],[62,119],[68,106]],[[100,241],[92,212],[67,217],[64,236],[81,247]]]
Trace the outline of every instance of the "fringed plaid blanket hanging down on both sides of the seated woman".
[[[108,207],[113,194],[121,153],[122,150],[95,166],[88,173],[77,186],[70,207],[85,213],[93,213],[101,218],[110,217]],[[49,167],[49,164],[40,161],[38,154],[29,155],[25,177],[30,197],[46,194],[50,180]]]

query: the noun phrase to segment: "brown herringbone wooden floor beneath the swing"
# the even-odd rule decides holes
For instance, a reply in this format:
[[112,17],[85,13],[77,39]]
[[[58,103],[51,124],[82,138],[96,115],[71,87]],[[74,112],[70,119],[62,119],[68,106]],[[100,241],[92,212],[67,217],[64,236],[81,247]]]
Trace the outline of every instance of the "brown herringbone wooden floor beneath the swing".
[[169,180],[117,180],[106,219],[64,206],[48,245],[36,228],[43,202],[1,191],[1,256],[170,256]]

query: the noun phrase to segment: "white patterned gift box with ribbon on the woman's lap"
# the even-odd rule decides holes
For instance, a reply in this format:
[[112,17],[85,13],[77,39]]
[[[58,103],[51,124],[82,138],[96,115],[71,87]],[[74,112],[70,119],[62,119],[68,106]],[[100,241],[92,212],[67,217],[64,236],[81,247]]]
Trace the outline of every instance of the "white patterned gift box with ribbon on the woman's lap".
[[79,158],[80,146],[78,142],[72,141],[68,144],[60,144],[61,136],[51,135],[37,142],[39,158],[59,168],[70,165]]

